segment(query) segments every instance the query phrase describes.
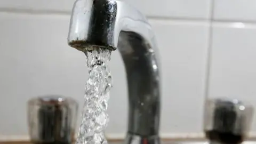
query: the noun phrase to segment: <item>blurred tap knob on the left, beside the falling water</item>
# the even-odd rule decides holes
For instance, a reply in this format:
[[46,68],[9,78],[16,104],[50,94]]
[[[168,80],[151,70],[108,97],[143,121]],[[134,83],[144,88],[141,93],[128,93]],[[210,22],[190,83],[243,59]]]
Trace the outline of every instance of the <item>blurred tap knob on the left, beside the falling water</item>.
[[71,143],[78,104],[71,98],[47,95],[28,101],[28,128],[34,143]]

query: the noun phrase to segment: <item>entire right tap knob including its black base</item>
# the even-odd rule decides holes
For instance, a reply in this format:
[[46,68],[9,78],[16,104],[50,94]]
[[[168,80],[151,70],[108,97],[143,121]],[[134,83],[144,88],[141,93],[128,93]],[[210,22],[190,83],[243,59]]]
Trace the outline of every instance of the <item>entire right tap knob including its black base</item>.
[[204,131],[214,143],[241,143],[250,131],[253,107],[237,99],[208,99]]

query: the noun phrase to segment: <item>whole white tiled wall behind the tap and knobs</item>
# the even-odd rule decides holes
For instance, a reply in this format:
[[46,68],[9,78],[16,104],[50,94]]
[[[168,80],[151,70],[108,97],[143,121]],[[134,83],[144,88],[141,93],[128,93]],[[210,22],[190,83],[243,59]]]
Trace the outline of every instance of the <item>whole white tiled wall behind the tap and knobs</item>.
[[[148,16],[156,33],[163,68],[163,137],[201,133],[205,97],[256,104],[255,0],[126,1]],[[27,135],[26,102],[37,95],[62,94],[82,105],[85,56],[67,45],[73,3],[0,1],[0,135]],[[117,51],[110,68],[114,87],[107,134],[123,137],[127,89]]]

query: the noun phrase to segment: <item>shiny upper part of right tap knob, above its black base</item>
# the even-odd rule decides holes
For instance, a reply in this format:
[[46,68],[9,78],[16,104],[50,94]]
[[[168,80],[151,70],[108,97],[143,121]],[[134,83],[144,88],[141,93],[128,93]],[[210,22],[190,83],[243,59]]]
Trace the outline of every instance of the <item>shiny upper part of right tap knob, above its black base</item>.
[[236,99],[209,99],[205,103],[204,130],[246,135],[253,107]]

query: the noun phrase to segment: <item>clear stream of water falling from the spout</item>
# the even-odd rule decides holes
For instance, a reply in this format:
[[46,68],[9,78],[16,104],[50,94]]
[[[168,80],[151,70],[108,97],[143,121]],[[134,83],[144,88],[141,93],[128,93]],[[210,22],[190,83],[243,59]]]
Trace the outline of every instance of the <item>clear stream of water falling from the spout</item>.
[[107,144],[104,130],[109,121],[106,110],[112,78],[107,63],[111,51],[92,47],[92,51],[86,51],[85,55],[89,78],[85,86],[82,124],[79,127],[76,144]]

